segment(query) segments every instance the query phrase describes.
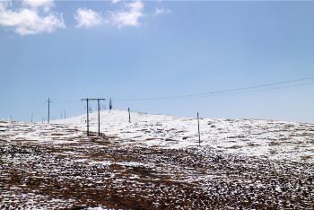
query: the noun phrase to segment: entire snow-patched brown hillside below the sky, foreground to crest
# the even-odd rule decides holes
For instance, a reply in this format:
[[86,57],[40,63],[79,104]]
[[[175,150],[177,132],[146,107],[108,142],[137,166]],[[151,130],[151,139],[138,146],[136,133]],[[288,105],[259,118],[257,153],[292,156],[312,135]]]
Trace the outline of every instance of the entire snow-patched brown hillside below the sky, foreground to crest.
[[0,208],[314,208],[312,124],[203,118],[197,146],[195,118],[131,118],[0,121]]

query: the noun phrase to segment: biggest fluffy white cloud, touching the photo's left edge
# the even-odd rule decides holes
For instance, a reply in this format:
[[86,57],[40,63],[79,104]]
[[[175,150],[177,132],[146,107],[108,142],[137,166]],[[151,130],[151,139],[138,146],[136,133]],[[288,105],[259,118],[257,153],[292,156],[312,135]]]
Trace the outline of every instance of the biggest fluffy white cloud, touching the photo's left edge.
[[65,28],[62,14],[40,15],[36,9],[21,7],[13,10],[9,8],[10,5],[0,3],[0,26],[12,27],[20,35],[53,32],[58,28]]

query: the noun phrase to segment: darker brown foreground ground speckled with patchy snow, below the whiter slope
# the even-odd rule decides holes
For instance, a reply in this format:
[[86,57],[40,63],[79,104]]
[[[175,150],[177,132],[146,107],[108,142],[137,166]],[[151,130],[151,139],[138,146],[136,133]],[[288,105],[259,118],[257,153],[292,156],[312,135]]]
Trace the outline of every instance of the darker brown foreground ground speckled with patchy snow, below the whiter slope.
[[122,144],[60,125],[41,129],[45,141],[10,137],[39,126],[0,123],[0,208],[314,208],[311,162]]

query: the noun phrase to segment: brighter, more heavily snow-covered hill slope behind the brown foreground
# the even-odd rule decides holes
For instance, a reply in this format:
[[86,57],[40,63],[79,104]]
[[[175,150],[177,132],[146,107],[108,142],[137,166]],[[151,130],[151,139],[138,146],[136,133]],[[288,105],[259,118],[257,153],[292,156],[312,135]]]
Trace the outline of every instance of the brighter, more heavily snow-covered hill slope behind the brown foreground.
[[[90,114],[90,125],[97,132],[97,112]],[[194,147],[198,144],[196,118],[179,118],[125,110],[100,112],[100,130],[117,137],[119,144],[158,146],[163,148]],[[86,116],[56,120],[86,130]],[[313,162],[314,125],[254,119],[201,118],[201,145],[217,151],[277,160]]]

